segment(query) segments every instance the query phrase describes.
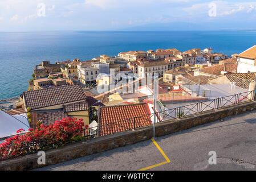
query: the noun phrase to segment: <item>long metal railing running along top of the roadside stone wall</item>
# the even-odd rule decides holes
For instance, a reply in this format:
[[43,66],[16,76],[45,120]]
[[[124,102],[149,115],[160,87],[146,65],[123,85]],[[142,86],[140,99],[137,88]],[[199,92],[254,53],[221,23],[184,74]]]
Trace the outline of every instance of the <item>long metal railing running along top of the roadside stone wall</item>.
[[[254,100],[255,90],[245,93],[238,93],[232,96],[220,97],[214,100],[205,102],[198,102],[196,104],[190,104],[185,106],[176,107],[173,109],[166,109],[156,111],[156,123],[168,121],[170,119],[187,117],[192,114],[202,113],[204,111],[221,109],[226,106],[237,105],[242,102]],[[166,107],[165,107],[166,108]],[[15,158],[17,156],[33,154],[39,150],[49,150],[59,146],[64,146],[69,143],[87,141],[96,137],[102,137],[105,135],[111,135],[127,130],[138,129],[143,126],[152,125],[154,114],[145,114],[138,117],[124,119],[122,121],[113,121],[106,125],[100,123],[96,127],[87,128],[76,131],[71,135],[79,136],[78,138],[69,138],[63,143],[54,143],[52,139],[40,138],[32,140],[31,142],[21,143],[19,145],[11,145],[0,148],[0,160]],[[12,155],[13,152],[18,152],[18,155]],[[5,154],[5,155],[2,155]]]

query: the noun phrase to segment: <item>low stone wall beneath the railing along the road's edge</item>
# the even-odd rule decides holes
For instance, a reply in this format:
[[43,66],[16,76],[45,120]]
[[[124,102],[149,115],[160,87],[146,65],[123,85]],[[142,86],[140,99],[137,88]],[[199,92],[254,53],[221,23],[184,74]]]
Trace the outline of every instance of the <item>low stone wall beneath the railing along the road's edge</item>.
[[[205,111],[204,113],[190,115],[181,119],[172,119],[156,123],[156,137],[186,130],[198,125],[217,121],[231,115],[245,113],[256,109],[256,102],[250,101],[243,104]],[[152,125],[141,127],[136,130],[124,131],[104,137],[95,138],[88,142],[70,144],[62,148],[46,151],[46,165],[52,165],[82,156],[103,152],[112,148],[125,146],[151,139],[153,136]],[[0,162],[0,170],[27,170],[39,168],[46,165],[37,163],[36,154],[23,156],[21,158],[3,160]]]

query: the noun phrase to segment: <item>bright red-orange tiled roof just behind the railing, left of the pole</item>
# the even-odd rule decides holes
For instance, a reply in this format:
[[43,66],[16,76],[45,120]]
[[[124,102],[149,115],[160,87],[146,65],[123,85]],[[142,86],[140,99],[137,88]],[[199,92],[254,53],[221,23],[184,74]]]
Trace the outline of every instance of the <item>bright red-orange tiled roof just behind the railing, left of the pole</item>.
[[145,103],[100,107],[99,136],[133,129],[134,124],[135,127],[150,125],[150,114],[148,104]]

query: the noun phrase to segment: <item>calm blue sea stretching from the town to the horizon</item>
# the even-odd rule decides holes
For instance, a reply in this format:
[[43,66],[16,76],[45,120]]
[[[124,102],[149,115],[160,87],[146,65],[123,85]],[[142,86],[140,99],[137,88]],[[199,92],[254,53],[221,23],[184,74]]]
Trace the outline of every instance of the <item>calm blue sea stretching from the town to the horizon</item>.
[[101,54],[157,48],[212,47],[227,55],[256,44],[254,31],[56,31],[0,32],[0,100],[27,90],[36,64],[43,60],[91,60]]

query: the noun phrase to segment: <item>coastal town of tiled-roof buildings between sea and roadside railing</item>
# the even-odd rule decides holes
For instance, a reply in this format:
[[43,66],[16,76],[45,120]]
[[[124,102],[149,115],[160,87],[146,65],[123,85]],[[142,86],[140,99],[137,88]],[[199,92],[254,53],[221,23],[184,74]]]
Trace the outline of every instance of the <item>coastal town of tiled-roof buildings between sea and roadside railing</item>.
[[42,61],[16,105],[2,103],[1,117],[21,122],[1,128],[0,140],[18,129],[26,133],[63,118],[81,119],[83,136],[94,139],[251,101],[255,55],[256,46],[231,56],[213,48],[159,48],[91,60]]

